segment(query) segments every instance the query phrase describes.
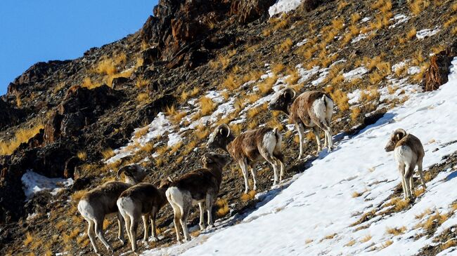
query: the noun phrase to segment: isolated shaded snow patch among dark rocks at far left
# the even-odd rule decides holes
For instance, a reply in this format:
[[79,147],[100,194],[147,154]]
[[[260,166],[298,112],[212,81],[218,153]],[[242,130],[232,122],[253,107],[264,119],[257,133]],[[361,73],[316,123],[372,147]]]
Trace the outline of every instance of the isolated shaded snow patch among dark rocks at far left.
[[49,178],[35,173],[32,170],[27,170],[20,180],[22,181],[22,189],[24,189],[26,197],[25,201],[29,201],[35,193],[45,190],[50,191],[53,196],[56,196],[59,191],[62,191],[65,187],[70,187],[73,184],[72,178]]

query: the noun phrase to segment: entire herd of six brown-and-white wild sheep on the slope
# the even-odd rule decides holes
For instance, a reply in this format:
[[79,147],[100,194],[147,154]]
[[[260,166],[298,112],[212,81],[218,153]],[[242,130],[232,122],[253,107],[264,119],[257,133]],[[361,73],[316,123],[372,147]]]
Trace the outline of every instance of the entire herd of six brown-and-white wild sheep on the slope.
[[[305,127],[312,128],[316,135],[317,152],[321,151],[319,129],[325,133],[324,147],[327,147],[328,151],[333,149],[332,129],[330,128],[333,100],[326,93],[309,91],[296,96],[295,90],[286,88],[276,93],[276,97],[269,104],[269,109],[285,112],[295,123],[300,137],[299,160],[304,156]],[[208,228],[211,228],[213,225],[212,206],[219,194],[222,171],[232,160],[238,162],[243,172],[245,193],[249,191],[248,167],[252,174],[253,189],[257,189],[254,166],[258,161],[267,161],[273,166],[273,186],[281,182],[284,175],[281,143],[281,133],[276,128],[247,130],[236,136],[231,133],[231,129],[227,125],[222,124],[217,126],[210,135],[207,148],[223,149],[229,155],[205,153],[201,157],[202,168],[186,173],[177,179],[172,180],[168,177],[160,181],[156,187],[155,184],[141,182],[146,177],[146,172],[141,166],[133,164],[120,168],[117,171],[117,177],[120,178],[123,173],[124,182],[106,182],[87,192],[78,204],[79,213],[89,224],[87,234],[95,252],[99,253],[95,236],[108,250],[112,251],[112,247],[103,237],[103,220],[108,214],[117,214],[118,238],[122,244],[125,243],[122,228],[125,227],[131,250],[134,252],[136,252],[136,229],[140,217],[144,225],[143,243],[147,243],[149,237],[148,221],[152,226],[153,239],[157,241],[155,219],[160,208],[165,206],[167,201],[174,211],[176,240],[181,242],[181,227],[184,241],[189,241],[191,236],[186,222],[192,206],[198,204],[200,208],[200,229],[205,229],[203,217],[205,210],[207,211]],[[411,198],[413,194],[413,171],[416,165],[420,181],[425,189],[422,171],[424,149],[417,137],[406,133],[403,129],[397,129],[392,133],[385,151],[394,151],[401,174],[404,198]]]

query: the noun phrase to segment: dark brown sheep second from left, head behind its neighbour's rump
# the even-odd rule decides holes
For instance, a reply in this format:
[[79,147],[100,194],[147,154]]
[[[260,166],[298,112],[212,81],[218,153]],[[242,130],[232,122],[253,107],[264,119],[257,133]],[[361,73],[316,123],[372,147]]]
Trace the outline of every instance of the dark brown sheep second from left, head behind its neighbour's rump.
[[143,219],[144,236],[143,243],[148,242],[150,220],[154,241],[158,241],[155,231],[155,220],[160,208],[167,203],[165,191],[169,181],[160,182],[157,189],[153,184],[142,182],[122,192],[117,199],[117,208],[124,218],[125,230],[131,244],[131,250],[136,252],[136,229],[140,217]]

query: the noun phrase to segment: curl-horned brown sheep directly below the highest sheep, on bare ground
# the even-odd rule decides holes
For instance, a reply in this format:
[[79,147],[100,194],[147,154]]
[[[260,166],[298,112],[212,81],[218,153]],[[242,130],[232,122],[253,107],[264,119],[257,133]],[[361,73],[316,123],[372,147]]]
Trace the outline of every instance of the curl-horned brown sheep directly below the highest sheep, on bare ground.
[[258,161],[266,160],[273,166],[273,186],[278,183],[278,169],[281,169],[279,181],[283,180],[284,157],[281,152],[281,141],[281,133],[276,128],[247,130],[235,137],[226,124],[221,124],[210,135],[207,147],[209,149],[224,149],[238,162],[243,172],[245,193],[247,193],[249,191],[247,167],[249,166],[251,170],[254,180],[253,189],[256,190],[257,180],[254,167]]

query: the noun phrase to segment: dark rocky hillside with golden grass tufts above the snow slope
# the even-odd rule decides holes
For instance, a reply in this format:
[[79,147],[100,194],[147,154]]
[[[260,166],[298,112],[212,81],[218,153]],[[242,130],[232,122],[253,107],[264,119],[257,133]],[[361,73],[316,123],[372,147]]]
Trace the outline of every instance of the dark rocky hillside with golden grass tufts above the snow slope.
[[[404,66],[397,71],[394,65],[405,62],[414,67],[411,70],[423,70],[421,74],[430,66],[427,84],[437,88],[449,58],[455,55],[452,50],[443,53],[446,63],[437,55],[429,65],[432,49],[439,52],[452,45],[452,25],[443,25],[436,36],[420,40],[413,36],[399,45],[399,37],[412,28],[442,26],[449,20],[453,11],[449,11],[451,3],[447,1],[428,8],[424,16],[411,14],[406,4],[397,1],[390,9],[387,5],[387,13],[382,14],[373,7],[375,1],[305,0],[291,13],[269,18],[269,6],[275,2],[161,0],[139,32],[91,48],[76,60],[39,62],[15,79],[0,99],[0,141],[12,142],[20,131],[42,128],[17,140],[11,154],[0,156],[0,254],[23,250],[27,232],[52,241],[44,248],[53,252],[61,252],[62,244],[70,253],[89,252],[84,245],[88,243],[86,237],[81,241],[56,237],[58,233],[70,236],[70,229],[86,229],[74,204],[79,191],[113,179],[112,170],[128,163],[142,163],[149,182],[199,167],[195,159],[204,149],[212,124],[196,126],[195,132],[185,130],[183,145],[176,150],[165,147],[165,133],[151,144],[133,145],[141,148],[138,154],[125,156],[116,164],[105,163],[112,149],[129,147],[132,133],[141,133],[159,112],[169,116],[191,114],[202,105],[202,98],[218,91],[221,99],[233,100],[238,115],[217,116],[217,122],[228,123],[244,115],[236,133],[263,123],[281,127],[284,143],[294,145],[285,147],[286,166],[292,175],[309,163],[296,161],[295,137],[285,128],[286,117],[261,109],[262,104],[257,106],[258,111],[252,107],[273,92],[273,85],[284,83],[299,91],[326,90],[337,105],[333,130],[350,135],[374,123],[386,108],[401,103],[412,90],[396,88],[394,79],[425,86],[422,76],[409,74]],[[406,14],[409,19],[398,23],[394,14]],[[358,29],[356,34],[352,34],[354,29]],[[370,69],[352,81],[345,80],[343,75],[361,67]],[[270,81],[273,83],[268,84]],[[359,102],[349,103],[347,95],[356,90],[364,94]],[[378,91],[387,90],[393,90],[394,96],[381,99]],[[195,105],[189,104],[189,99]],[[210,107],[214,111],[214,106]],[[181,120],[181,124],[188,127],[193,121]],[[187,145],[193,147],[185,149]],[[163,163],[145,161],[163,147],[169,150]],[[308,140],[307,152],[311,154],[315,148],[314,140]],[[269,189],[267,169],[259,172],[264,173],[259,175],[261,191]],[[39,193],[25,202],[21,177],[27,170],[46,177],[71,177],[75,184],[56,196]],[[240,200],[240,174],[228,171],[224,175],[220,196],[228,200],[233,213],[255,206],[255,201]],[[37,217],[27,220],[28,215]],[[172,222],[169,210],[160,217],[162,228]],[[196,223],[193,217],[191,220]],[[56,224],[63,222],[62,226]],[[58,226],[56,230],[47,231],[54,226]],[[165,236],[161,245],[172,242],[172,236]]]

